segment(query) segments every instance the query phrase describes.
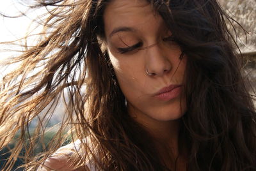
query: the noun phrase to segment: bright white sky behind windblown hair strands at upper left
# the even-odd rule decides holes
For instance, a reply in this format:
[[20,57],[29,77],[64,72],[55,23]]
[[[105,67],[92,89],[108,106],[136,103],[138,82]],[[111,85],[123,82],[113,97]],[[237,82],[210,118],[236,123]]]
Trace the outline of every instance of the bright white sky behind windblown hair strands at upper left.
[[[4,15],[8,16],[17,16],[20,15],[20,11],[25,12],[27,11],[27,7],[19,4],[18,0],[0,0],[0,12]],[[31,1],[31,0],[30,0]],[[26,2],[29,4],[29,0],[26,0]],[[28,12],[27,17],[16,17],[16,18],[8,18],[3,17],[3,15],[0,15],[0,41],[13,41],[17,40],[19,38],[22,38],[26,35],[28,28],[35,27],[31,26],[31,21],[33,19],[36,19],[36,16],[38,16],[40,13],[42,13],[44,10],[36,10],[36,11],[30,11]],[[30,29],[31,30],[31,29]],[[36,33],[36,30],[33,33]],[[30,40],[30,42],[33,42],[33,40]],[[0,78],[3,77],[5,73],[8,73],[15,68],[15,66],[3,66],[1,64],[1,61],[4,59],[10,57],[10,56],[17,56],[17,52],[13,50],[7,50],[3,51],[6,48],[12,48],[14,50],[19,50],[18,47],[13,47],[10,45],[0,45]]]

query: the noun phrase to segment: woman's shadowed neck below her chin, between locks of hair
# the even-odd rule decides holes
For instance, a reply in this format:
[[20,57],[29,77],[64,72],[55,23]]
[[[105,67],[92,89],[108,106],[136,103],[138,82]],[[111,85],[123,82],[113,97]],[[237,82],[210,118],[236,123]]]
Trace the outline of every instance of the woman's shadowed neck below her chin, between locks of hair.
[[132,119],[149,133],[154,142],[159,158],[171,170],[186,170],[186,160],[183,151],[179,151],[180,119],[175,121],[158,121],[147,115],[138,115],[129,111]]

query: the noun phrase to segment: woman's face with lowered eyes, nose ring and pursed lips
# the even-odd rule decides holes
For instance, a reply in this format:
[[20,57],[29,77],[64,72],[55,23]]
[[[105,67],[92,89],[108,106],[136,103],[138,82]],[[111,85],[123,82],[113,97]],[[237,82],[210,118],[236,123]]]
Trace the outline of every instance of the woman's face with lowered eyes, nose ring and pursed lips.
[[143,124],[182,117],[186,56],[179,59],[180,47],[161,16],[147,1],[113,0],[104,11],[104,28],[129,114]]

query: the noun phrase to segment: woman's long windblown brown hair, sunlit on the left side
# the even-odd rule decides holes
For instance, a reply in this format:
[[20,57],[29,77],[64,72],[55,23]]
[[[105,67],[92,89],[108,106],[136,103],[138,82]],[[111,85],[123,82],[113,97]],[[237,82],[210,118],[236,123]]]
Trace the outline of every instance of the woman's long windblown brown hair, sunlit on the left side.
[[[255,108],[226,26],[232,19],[216,0],[149,2],[188,57],[183,91],[188,111],[179,138],[188,170],[256,170]],[[95,163],[99,170],[165,169],[150,135],[127,114],[104,47],[106,4],[42,0],[31,7],[51,6],[42,23],[45,37],[13,58],[12,63],[22,62],[20,68],[0,82],[0,148],[20,131],[4,170],[11,170],[22,148],[24,167],[35,170],[76,139],[81,145],[68,156],[74,168]],[[45,152],[35,154],[61,99],[63,121],[51,143],[43,145]],[[33,119],[38,127],[29,132]]]

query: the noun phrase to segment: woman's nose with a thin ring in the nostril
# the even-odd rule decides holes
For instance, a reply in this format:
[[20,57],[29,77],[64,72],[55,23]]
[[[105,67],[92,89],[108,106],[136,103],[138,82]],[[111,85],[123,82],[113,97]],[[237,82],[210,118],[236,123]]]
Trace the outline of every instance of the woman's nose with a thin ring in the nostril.
[[147,49],[145,71],[150,76],[163,76],[172,69],[172,64],[168,60],[168,54],[156,44]]

